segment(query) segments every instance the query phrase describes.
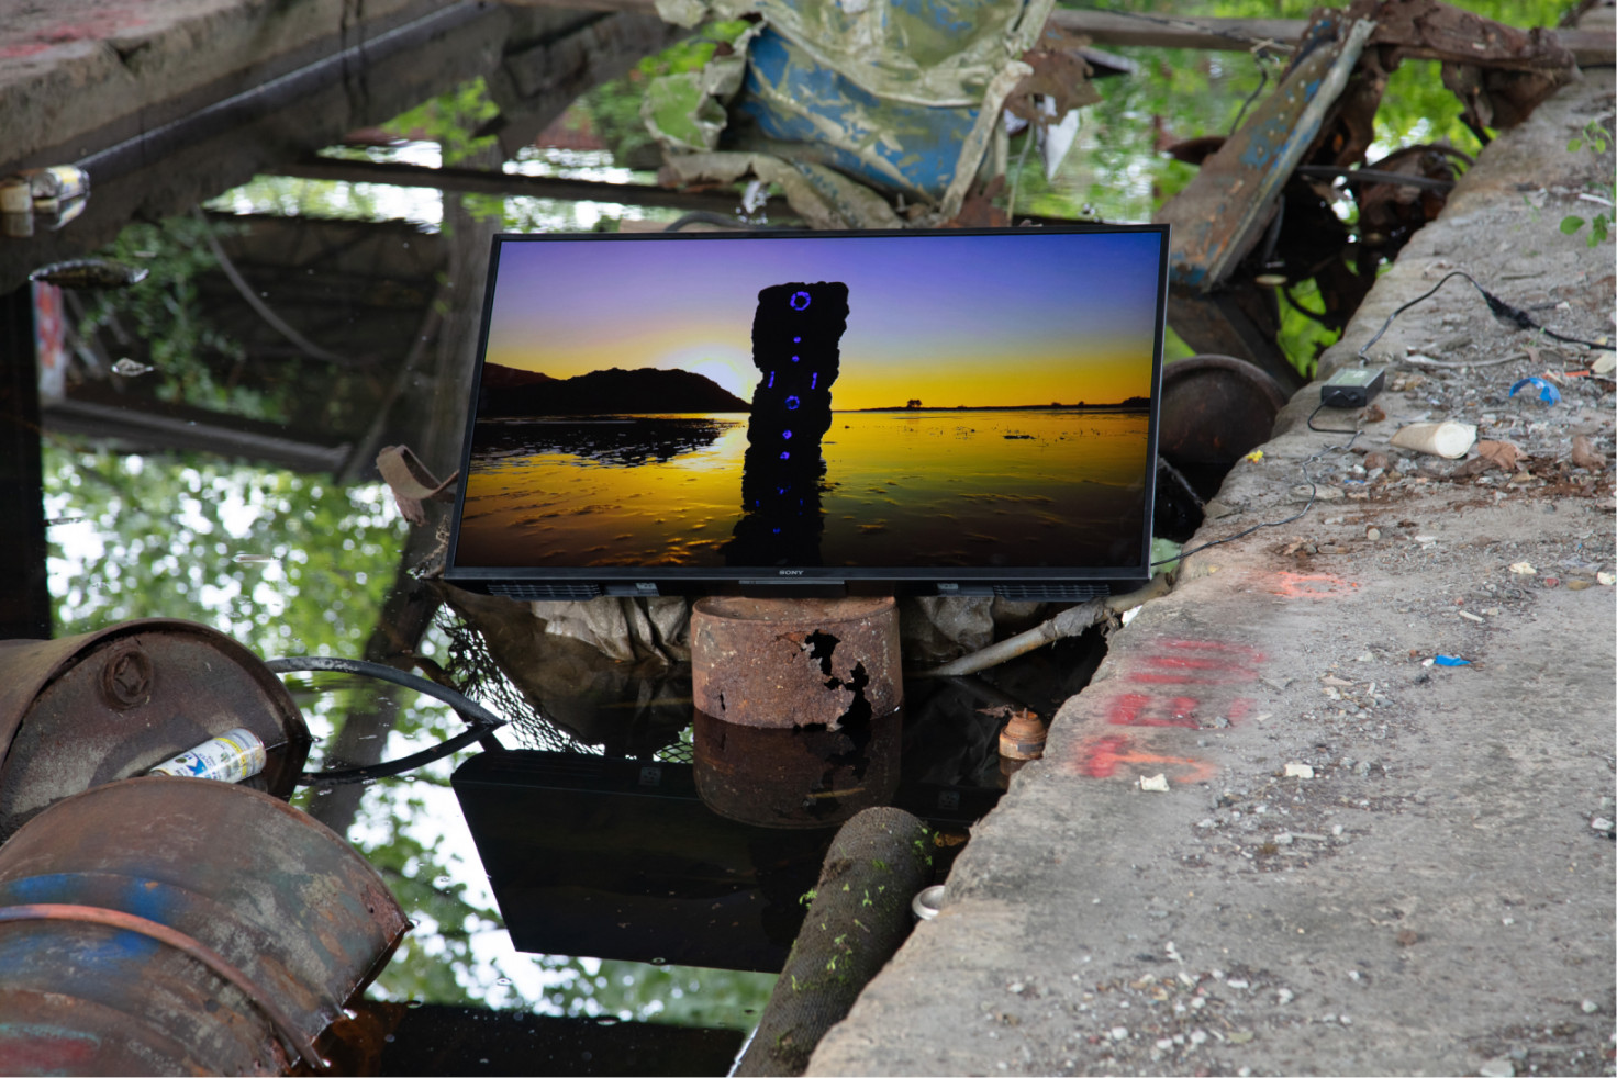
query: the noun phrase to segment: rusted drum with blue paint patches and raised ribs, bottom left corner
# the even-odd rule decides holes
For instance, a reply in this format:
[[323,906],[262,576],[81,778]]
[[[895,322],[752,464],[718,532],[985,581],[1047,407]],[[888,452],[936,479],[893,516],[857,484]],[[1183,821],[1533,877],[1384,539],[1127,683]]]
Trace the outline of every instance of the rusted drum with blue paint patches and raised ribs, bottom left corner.
[[343,839],[243,785],[144,777],[0,845],[0,1073],[281,1073],[406,921]]

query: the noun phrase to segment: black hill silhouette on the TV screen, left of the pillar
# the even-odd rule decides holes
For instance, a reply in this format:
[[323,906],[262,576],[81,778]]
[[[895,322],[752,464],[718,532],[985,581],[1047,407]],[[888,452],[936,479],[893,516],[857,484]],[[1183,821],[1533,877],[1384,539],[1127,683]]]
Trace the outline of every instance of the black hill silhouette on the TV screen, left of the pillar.
[[597,415],[745,412],[747,402],[711,378],[689,370],[592,370],[576,378],[483,364],[483,388],[495,390],[479,415]]

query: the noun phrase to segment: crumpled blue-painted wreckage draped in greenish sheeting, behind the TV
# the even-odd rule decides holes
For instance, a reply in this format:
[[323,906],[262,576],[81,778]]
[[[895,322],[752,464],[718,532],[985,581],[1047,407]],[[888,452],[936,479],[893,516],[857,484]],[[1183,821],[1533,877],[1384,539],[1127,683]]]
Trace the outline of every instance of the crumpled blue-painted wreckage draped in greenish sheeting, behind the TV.
[[702,71],[658,79],[642,116],[674,183],[778,183],[815,228],[939,225],[1003,175],[1001,113],[1053,6],[665,0],[686,26],[758,21]]

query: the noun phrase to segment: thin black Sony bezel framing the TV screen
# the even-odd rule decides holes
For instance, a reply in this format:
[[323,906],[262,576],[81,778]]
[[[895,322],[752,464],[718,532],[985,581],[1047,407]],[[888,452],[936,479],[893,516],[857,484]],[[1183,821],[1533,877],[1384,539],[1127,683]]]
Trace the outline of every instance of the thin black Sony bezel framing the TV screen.
[[[906,566],[577,566],[577,567],[472,567],[456,566],[461,538],[461,514],[466,506],[464,472],[471,462],[477,430],[477,407],[482,396],[483,364],[493,314],[500,255],[506,244],[543,244],[558,241],[590,242],[747,242],[757,239],[855,239],[904,238],[927,242],[946,236],[1116,234],[1156,233],[1161,239],[1156,284],[1156,343],[1151,357],[1151,396],[1146,425],[1145,527],[1140,535],[1140,558],[1130,566],[1035,566],[1006,567],[906,567]],[[466,433],[461,446],[462,482],[454,498],[450,541],[445,553],[443,579],[461,588],[505,593],[513,598],[589,598],[592,595],[658,596],[658,595],[757,595],[766,598],[810,598],[836,595],[1001,595],[1017,598],[1088,598],[1119,593],[1151,577],[1151,535],[1156,501],[1156,444],[1161,422],[1163,343],[1167,315],[1167,225],[1045,225],[1033,228],[949,228],[949,229],[847,229],[847,231],[699,231],[699,233],[500,233],[488,252],[488,276],[483,288],[482,322],[477,357],[472,370],[466,411]]]

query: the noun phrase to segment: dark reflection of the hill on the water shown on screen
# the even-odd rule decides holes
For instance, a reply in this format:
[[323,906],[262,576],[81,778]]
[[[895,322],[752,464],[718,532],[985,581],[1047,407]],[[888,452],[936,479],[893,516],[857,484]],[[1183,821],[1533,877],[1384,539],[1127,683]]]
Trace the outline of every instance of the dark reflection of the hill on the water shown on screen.
[[711,446],[734,425],[723,419],[663,415],[480,422],[472,457],[487,464],[511,456],[569,453],[598,464],[661,464]]

